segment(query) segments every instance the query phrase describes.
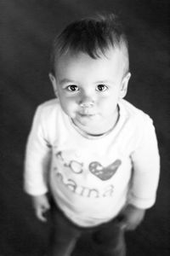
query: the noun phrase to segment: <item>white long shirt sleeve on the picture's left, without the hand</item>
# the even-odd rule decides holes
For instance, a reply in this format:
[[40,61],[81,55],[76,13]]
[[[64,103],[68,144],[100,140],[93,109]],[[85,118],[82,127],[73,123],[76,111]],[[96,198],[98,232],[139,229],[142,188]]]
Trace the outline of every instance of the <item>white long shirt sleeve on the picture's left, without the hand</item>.
[[48,191],[47,171],[50,151],[40,106],[35,113],[26,144],[24,189],[30,195],[42,195]]

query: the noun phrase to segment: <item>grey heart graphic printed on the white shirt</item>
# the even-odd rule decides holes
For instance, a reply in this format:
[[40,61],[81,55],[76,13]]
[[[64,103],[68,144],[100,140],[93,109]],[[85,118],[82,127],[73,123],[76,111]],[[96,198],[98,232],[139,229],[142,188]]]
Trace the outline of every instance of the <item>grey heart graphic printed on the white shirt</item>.
[[99,162],[95,161],[89,164],[89,170],[92,172],[96,177],[99,177],[101,180],[108,180],[110,179],[121,166],[122,161],[116,160],[110,166],[102,166]]

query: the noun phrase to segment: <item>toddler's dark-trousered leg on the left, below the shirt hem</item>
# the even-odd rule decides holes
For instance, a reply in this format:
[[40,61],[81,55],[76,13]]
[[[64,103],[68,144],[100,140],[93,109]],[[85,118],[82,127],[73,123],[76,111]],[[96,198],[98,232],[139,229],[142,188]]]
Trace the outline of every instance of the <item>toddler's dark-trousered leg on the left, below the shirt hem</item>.
[[52,237],[52,246],[50,256],[70,256],[77,239],[81,236],[78,230],[71,222],[62,215],[58,209],[53,211],[54,232]]

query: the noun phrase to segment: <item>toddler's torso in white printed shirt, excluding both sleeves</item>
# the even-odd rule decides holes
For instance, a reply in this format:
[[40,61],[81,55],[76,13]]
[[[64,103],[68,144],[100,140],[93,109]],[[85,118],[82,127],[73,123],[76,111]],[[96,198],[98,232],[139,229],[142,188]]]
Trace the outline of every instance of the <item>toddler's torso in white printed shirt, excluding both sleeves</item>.
[[92,139],[78,133],[65,114],[57,116],[49,178],[54,200],[68,218],[82,226],[116,217],[127,202],[131,154],[138,140],[135,127],[122,117],[110,134]]

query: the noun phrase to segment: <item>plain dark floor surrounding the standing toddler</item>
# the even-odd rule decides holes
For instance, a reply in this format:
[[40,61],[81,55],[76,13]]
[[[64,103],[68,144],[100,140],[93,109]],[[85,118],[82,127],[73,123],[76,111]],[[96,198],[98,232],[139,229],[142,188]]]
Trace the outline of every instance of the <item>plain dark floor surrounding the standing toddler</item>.
[[[138,230],[127,233],[127,256],[170,255],[169,37],[167,1],[6,0],[0,1],[0,84],[3,95],[0,171],[0,255],[42,256],[50,220],[34,217],[22,189],[26,137],[37,104],[54,97],[48,55],[54,33],[94,11],[116,11],[127,26],[132,79],[127,100],[149,113],[156,125],[161,180],[156,206]],[[3,93],[3,94],[2,94]],[[74,256],[96,256],[89,237]]]

